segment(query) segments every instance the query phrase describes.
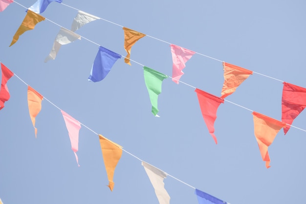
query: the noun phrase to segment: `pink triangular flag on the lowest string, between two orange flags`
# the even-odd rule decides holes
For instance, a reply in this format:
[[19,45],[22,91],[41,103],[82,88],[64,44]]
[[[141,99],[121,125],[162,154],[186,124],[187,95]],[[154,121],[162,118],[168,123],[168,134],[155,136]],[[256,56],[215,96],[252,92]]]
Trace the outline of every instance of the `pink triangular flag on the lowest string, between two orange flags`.
[[72,118],[70,115],[68,115],[63,110],[61,110],[61,112],[63,114],[64,121],[66,123],[66,127],[68,130],[68,135],[69,135],[69,139],[71,143],[71,149],[74,152],[75,159],[78,163],[78,166],[80,166],[79,158],[76,152],[79,150],[79,131],[81,129],[81,123],[75,120],[74,118]]

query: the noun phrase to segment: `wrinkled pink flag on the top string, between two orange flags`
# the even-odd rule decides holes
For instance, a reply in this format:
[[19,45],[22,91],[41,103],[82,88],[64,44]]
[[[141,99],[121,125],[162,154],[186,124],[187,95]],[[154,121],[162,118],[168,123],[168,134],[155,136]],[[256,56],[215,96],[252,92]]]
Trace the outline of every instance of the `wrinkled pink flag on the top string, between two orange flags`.
[[179,79],[184,74],[185,63],[196,53],[183,47],[171,44],[172,53],[172,81],[178,84]]

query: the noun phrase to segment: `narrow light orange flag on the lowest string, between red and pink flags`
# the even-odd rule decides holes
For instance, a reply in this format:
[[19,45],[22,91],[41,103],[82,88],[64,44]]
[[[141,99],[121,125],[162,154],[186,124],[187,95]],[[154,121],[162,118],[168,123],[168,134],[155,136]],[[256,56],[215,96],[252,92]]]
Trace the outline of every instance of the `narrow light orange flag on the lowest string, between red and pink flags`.
[[37,128],[35,127],[35,118],[42,109],[43,96],[28,85],[28,107],[30,118],[35,129],[35,138],[37,137]]

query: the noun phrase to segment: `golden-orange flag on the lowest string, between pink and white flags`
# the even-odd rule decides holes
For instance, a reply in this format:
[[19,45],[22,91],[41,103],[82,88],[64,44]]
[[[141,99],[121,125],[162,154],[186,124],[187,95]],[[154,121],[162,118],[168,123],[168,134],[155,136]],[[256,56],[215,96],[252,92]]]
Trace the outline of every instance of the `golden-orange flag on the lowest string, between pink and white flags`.
[[102,149],[102,155],[106,173],[109,179],[109,189],[112,191],[114,187],[113,177],[117,163],[119,162],[122,155],[122,146],[116,144],[102,135],[99,135],[100,145]]

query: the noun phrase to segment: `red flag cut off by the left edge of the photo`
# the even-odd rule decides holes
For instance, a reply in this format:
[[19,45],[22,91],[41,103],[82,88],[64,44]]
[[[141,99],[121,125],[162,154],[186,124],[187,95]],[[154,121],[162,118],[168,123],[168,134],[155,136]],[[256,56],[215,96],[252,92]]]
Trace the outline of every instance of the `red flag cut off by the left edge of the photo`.
[[4,108],[4,102],[10,99],[10,93],[8,92],[6,83],[14,75],[14,73],[2,63],[1,63],[1,71],[2,71],[2,81],[0,88],[0,110]]

